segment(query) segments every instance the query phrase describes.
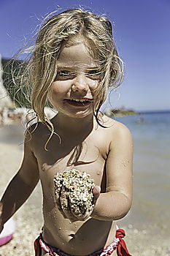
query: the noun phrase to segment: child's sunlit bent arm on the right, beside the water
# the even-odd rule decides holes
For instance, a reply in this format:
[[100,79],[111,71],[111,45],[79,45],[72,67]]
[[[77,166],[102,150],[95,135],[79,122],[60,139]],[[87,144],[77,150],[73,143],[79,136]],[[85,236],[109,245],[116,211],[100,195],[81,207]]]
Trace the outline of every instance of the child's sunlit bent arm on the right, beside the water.
[[133,142],[128,128],[118,126],[107,157],[107,191],[99,195],[91,214],[95,219],[121,219],[131,208]]

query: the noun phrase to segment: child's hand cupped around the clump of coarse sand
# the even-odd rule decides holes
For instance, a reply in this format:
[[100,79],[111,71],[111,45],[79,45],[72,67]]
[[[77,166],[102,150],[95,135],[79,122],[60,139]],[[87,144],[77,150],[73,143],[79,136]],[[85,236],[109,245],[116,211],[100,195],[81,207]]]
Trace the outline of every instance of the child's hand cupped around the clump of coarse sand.
[[[95,206],[96,201],[100,195],[101,188],[98,186],[95,186],[93,188],[93,205]],[[85,214],[81,216],[77,216],[72,212],[71,207],[70,207],[70,202],[68,197],[65,197],[65,190],[63,187],[61,187],[61,191],[58,193],[57,196],[55,196],[55,203],[58,205],[59,211],[61,211],[61,214],[65,219],[69,219],[71,222],[76,222],[76,221],[84,221],[85,219],[88,219],[90,217],[90,214],[93,212],[93,208],[91,211],[87,211]],[[93,206],[93,207],[94,207]]]

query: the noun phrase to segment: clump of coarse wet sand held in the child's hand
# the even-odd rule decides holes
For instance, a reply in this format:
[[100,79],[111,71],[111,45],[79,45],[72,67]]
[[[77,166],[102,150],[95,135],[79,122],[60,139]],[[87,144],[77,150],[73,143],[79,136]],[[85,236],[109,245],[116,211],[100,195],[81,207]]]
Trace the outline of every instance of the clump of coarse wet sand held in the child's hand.
[[61,207],[82,216],[93,210],[94,181],[90,175],[79,170],[65,170],[54,176],[55,195],[61,193]]

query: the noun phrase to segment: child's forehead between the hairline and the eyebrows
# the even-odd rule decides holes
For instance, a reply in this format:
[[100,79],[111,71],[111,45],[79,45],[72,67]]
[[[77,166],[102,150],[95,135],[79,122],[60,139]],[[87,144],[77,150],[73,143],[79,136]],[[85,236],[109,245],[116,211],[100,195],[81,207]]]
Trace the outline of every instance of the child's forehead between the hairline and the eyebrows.
[[63,45],[57,65],[58,67],[98,67],[98,59],[94,57],[87,43],[79,39]]

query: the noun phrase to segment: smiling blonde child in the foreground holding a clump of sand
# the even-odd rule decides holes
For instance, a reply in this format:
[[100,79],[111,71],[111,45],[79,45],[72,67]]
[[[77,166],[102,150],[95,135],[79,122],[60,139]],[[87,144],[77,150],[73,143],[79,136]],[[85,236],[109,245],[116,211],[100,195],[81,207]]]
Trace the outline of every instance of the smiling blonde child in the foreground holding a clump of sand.
[[[131,132],[100,112],[109,86],[122,81],[122,64],[104,15],[66,10],[39,30],[27,67],[37,122],[26,131],[23,162],[1,198],[0,218],[3,230],[41,181],[44,225],[34,242],[36,256],[130,255],[116,221],[131,208]],[[49,102],[58,110],[51,119],[44,113]],[[93,201],[81,192],[79,205],[91,203],[90,211],[73,211],[66,182],[54,186],[64,172],[82,173],[73,191],[81,191],[83,177],[94,181]]]

